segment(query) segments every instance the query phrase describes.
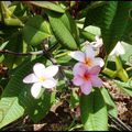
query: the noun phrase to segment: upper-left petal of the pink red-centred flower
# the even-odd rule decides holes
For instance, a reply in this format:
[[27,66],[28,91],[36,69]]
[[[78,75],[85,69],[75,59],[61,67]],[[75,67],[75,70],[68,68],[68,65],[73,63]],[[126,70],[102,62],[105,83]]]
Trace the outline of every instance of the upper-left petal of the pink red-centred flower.
[[73,68],[73,74],[76,75],[80,75],[82,76],[86,69],[86,65],[84,63],[77,63],[75,64],[74,68]]

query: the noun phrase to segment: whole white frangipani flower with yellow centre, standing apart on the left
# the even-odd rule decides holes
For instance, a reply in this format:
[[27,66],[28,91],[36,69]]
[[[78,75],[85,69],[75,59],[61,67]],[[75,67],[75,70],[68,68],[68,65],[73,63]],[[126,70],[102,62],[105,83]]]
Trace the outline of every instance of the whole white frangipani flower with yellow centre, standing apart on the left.
[[36,63],[33,66],[33,74],[28,75],[23,79],[23,82],[33,84],[31,94],[34,98],[40,98],[43,87],[53,89],[57,85],[57,81],[53,77],[57,74],[58,66],[53,65],[45,68],[43,64]]

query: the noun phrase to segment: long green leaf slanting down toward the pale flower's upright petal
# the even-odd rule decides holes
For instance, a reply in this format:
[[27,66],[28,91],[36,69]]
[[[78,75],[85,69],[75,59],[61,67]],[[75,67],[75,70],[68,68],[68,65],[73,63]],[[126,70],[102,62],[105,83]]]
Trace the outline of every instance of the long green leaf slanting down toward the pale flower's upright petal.
[[[70,30],[72,26],[69,26],[68,24],[68,22],[70,21],[64,22],[65,20],[64,15],[66,14],[59,15],[59,14],[55,14],[54,12],[47,12],[47,13],[48,13],[48,20],[50,20],[50,24],[52,26],[53,33],[55,37],[59,41],[59,43],[63,46],[67,47],[68,50],[77,50],[77,43],[72,34],[74,30]],[[62,21],[62,18],[63,18],[63,21]],[[67,18],[67,20],[69,18]],[[73,22],[70,22],[70,24],[73,25]]]

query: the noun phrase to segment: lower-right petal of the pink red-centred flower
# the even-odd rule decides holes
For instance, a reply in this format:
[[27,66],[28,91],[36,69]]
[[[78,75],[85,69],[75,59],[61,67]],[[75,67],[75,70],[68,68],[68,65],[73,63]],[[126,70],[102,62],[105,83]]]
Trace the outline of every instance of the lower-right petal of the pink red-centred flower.
[[99,77],[97,77],[97,76],[92,76],[90,78],[90,80],[91,80],[91,84],[92,84],[94,87],[102,86],[102,80]]

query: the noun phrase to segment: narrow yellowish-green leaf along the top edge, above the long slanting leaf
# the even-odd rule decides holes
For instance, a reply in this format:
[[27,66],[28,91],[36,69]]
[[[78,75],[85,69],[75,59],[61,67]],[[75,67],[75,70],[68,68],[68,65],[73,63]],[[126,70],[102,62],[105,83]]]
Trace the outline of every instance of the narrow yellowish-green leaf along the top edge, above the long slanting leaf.
[[58,4],[54,3],[54,2],[50,2],[50,1],[30,1],[30,3],[44,8],[44,9],[48,9],[48,10],[53,10],[59,13],[64,13],[65,10],[62,9]]

